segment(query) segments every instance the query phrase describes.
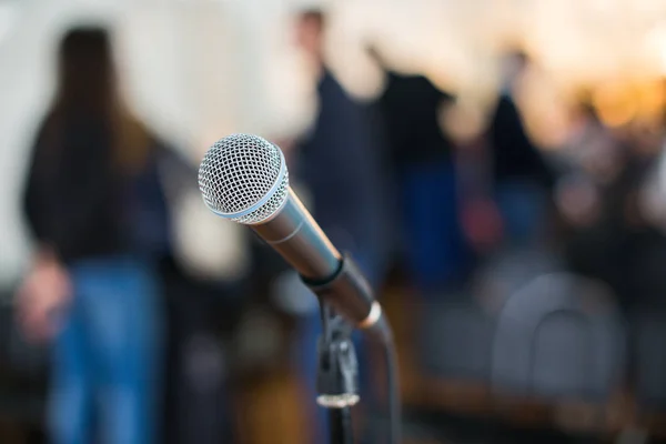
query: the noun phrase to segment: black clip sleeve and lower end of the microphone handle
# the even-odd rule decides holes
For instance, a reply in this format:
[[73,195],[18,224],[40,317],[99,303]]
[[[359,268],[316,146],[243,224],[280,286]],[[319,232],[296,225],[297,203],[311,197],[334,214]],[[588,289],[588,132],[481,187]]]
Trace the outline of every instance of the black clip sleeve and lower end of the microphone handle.
[[301,280],[322,303],[329,304],[354,326],[367,330],[373,335],[379,333],[382,341],[390,340],[385,316],[359,265],[349,254],[341,262],[337,272],[324,282],[304,276]]

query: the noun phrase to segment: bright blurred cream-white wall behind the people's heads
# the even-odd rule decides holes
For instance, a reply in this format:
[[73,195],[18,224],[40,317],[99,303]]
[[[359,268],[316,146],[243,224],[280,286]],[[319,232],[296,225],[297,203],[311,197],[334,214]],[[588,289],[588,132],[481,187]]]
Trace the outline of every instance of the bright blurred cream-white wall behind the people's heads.
[[293,50],[290,14],[312,3],[331,7],[330,58],[359,94],[381,84],[367,42],[396,67],[468,95],[493,90],[493,50],[509,38],[527,38],[563,78],[617,67],[649,73],[642,60],[652,47],[666,60],[665,39],[634,50],[643,28],[666,29],[663,0],[0,0],[0,284],[26,263],[18,208],[26,154],[51,94],[54,38],[67,23],[97,17],[114,24],[134,108],[195,161],[232,131],[283,138],[307,124],[312,82]]

